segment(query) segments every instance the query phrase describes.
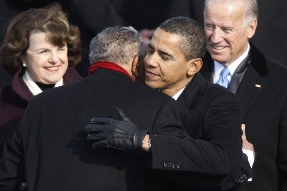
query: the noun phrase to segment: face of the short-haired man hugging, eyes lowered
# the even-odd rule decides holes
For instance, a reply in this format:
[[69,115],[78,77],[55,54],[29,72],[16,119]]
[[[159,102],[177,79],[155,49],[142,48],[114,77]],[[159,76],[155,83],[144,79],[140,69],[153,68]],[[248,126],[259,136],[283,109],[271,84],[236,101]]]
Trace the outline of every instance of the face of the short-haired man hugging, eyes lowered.
[[190,65],[178,48],[181,42],[179,36],[156,29],[144,58],[147,86],[173,96],[190,81],[186,77]]

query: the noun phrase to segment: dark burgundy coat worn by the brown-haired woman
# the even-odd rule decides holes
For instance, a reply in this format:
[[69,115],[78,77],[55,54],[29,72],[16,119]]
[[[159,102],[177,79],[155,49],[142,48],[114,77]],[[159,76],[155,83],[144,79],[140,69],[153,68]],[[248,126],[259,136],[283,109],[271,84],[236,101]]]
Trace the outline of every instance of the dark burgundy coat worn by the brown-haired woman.
[[[24,72],[25,69],[20,68],[14,75],[12,84],[0,89],[0,158],[5,141],[13,135],[29,100],[33,97],[32,92],[22,79]],[[68,67],[63,76],[64,84],[79,79],[82,77],[75,68]]]

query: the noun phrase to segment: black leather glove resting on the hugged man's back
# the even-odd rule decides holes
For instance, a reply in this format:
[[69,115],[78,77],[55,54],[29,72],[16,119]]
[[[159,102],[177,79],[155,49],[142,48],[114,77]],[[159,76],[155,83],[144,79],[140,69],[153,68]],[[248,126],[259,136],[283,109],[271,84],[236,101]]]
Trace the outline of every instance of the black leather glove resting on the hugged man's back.
[[147,130],[139,130],[119,108],[121,120],[93,118],[85,128],[87,140],[93,140],[93,148],[112,147],[133,152],[142,152]]

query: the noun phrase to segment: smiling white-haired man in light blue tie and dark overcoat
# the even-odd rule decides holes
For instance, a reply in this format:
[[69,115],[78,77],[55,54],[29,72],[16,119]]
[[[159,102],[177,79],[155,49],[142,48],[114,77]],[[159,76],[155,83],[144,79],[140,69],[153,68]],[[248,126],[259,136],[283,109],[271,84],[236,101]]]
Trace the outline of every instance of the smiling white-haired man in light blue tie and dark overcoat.
[[200,72],[243,104],[246,137],[257,154],[254,177],[244,191],[286,191],[287,67],[249,41],[258,23],[257,7],[256,0],[205,1],[209,55]]

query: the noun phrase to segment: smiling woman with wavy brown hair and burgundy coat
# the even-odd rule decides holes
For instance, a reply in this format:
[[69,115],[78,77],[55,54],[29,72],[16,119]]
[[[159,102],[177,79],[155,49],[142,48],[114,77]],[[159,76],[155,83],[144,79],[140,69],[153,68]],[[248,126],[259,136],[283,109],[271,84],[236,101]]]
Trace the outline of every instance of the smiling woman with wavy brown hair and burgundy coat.
[[12,84],[0,89],[0,153],[32,96],[81,79],[80,31],[59,4],[19,13],[8,26],[0,64]]

